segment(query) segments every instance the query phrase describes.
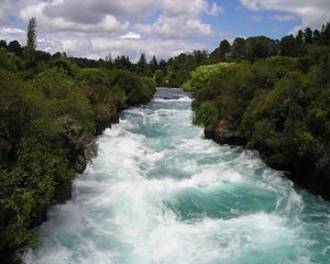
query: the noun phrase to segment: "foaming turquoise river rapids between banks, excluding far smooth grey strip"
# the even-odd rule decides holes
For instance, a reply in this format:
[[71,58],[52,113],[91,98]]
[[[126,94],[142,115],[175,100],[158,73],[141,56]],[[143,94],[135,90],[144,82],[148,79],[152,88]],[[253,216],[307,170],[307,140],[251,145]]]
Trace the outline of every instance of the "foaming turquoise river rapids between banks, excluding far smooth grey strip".
[[190,103],[124,111],[25,262],[330,263],[329,204],[254,152],[204,140]]

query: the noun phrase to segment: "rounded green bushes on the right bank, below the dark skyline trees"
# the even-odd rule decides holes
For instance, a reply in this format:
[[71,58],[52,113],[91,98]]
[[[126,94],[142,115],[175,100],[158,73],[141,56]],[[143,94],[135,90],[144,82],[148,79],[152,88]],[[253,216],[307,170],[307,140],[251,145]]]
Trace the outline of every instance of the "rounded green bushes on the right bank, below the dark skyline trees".
[[330,50],[314,44],[306,51],[299,58],[197,68],[185,84],[195,97],[194,122],[222,142],[244,139],[275,168],[311,173],[330,145]]

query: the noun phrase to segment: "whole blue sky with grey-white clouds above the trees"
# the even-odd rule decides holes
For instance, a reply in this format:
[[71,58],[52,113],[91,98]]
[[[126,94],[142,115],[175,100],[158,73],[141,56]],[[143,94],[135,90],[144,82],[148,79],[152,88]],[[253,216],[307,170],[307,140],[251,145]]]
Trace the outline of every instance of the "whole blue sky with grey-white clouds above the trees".
[[213,51],[223,38],[320,29],[330,0],[0,0],[0,38],[25,45],[32,16],[38,50],[134,62],[141,53],[168,58]]

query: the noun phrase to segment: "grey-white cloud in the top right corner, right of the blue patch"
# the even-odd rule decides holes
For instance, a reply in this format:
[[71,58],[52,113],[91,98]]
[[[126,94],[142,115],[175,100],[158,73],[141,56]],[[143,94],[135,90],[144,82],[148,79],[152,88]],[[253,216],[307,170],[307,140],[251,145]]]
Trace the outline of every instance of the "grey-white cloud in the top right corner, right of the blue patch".
[[[301,24],[293,29],[293,32],[301,28],[319,29],[330,19],[329,0],[241,0],[241,4],[250,10],[275,10],[290,13],[301,19]],[[289,16],[276,16],[277,21],[288,21]]]

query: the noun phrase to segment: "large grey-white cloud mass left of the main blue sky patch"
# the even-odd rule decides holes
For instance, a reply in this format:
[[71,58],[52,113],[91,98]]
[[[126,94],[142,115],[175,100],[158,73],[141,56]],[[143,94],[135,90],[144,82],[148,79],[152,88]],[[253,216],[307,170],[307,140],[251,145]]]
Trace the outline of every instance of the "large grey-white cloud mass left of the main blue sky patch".
[[[140,53],[168,57],[206,48],[196,36],[211,36],[212,26],[204,15],[218,15],[223,9],[213,0],[1,0],[0,37],[25,44],[22,24],[34,16],[37,47],[51,53],[105,57]],[[193,40],[195,38],[195,41]]]

